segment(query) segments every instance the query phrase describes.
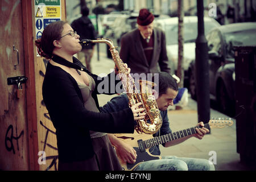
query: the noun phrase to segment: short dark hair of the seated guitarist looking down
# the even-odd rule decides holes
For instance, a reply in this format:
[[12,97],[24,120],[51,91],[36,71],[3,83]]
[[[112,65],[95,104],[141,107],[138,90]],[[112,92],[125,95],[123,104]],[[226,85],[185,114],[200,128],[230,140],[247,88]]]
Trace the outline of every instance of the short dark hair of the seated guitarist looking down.
[[175,91],[177,91],[179,89],[176,80],[174,79],[174,77],[172,77],[169,73],[167,72],[159,72],[158,73],[158,81],[154,80],[156,77],[152,77],[152,81],[153,82],[158,82],[158,94],[159,96],[161,96],[162,94],[166,93],[166,90],[168,88],[173,89]]

